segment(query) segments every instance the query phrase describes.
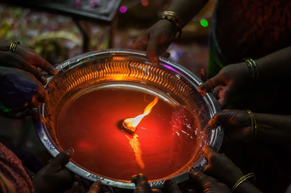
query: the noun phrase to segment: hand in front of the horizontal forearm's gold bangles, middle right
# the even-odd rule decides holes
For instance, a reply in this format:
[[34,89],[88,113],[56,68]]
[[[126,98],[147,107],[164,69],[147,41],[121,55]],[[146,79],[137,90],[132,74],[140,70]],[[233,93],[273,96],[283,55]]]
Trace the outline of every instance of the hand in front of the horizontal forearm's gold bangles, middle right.
[[208,125],[223,125],[227,141],[248,141],[251,138],[251,118],[247,111],[223,110],[214,114]]

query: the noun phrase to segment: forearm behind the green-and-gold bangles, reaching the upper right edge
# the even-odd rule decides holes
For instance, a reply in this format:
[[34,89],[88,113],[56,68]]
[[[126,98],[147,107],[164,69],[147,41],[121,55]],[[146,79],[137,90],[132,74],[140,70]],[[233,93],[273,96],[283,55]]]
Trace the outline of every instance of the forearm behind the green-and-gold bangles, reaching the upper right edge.
[[291,46],[255,60],[259,80],[270,77],[289,77],[291,72]]

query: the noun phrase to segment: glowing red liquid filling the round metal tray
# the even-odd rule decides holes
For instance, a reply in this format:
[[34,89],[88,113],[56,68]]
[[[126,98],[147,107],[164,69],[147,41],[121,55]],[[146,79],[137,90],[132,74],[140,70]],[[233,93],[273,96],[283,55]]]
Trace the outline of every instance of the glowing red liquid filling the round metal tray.
[[[191,160],[196,147],[197,125],[187,108],[159,99],[134,134],[118,128],[119,121],[142,114],[154,97],[121,89],[81,95],[61,110],[61,146],[74,148],[72,160],[79,165],[114,179],[130,180],[132,175],[143,173],[153,180],[177,172]],[[129,143],[135,134],[143,169]]]

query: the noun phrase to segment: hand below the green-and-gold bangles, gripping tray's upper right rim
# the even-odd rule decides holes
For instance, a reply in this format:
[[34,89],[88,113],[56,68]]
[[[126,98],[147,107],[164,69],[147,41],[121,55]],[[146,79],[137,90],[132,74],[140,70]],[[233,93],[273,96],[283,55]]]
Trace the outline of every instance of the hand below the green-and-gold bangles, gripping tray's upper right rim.
[[246,63],[231,64],[221,69],[216,76],[198,86],[198,90],[201,94],[205,94],[220,86],[217,97],[221,108],[224,108],[230,97],[250,80],[249,68]]

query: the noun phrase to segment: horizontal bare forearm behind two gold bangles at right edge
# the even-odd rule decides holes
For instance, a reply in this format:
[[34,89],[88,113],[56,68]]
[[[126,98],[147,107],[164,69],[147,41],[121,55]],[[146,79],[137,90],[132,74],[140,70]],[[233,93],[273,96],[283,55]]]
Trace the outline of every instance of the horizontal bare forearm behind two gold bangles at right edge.
[[291,116],[254,113],[257,122],[256,140],[272,143],[289,143]]

